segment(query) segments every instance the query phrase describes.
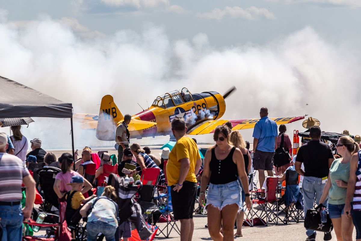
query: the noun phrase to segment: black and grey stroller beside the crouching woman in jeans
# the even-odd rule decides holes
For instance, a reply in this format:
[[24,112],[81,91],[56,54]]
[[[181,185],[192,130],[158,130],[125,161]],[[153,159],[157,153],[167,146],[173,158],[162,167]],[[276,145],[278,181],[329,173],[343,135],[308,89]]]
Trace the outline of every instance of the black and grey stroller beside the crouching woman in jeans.
[[135,227],[132,231],[132,237],[128,238],[128,240],[139,240],[140,238],[140,240],[152,241],[157,230],[145,221],[142,215],[142,208],[134,199],[134,195],[142,189],[142,183],[138,181],[136,185],[125,185],[123,177],[112,173],[109,175],[108,184],[116,189],[119,197],[117,201],[119,207],[119,224],[129,220],[132,227]]

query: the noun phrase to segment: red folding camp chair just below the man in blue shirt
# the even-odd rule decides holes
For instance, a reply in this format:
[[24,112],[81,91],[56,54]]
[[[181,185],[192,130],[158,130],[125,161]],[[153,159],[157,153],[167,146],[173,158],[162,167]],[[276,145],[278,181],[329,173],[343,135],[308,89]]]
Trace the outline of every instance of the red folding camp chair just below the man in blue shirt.
[[[278,177],[268,177],[266,181],[267,191],[252,191],[258,199],[253,199],[252,204],[259,204],[260,209],[256,209],[253,213],[252,219],[259,218],[262,223],[267,226],[270,222],[278,225],[278,210],[279,210],[279,199],[277,198],[276,192],[278,190]],[[260,198],[260,194],[264,193],[265,198]],[[264,221],[264,219],[266,221]]]

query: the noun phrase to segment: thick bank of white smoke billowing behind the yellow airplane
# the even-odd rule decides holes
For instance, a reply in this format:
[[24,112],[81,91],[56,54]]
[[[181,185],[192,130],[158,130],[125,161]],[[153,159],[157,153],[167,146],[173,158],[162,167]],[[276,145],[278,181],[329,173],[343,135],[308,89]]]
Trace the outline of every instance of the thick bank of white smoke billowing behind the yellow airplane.
[[[73,103],[75,113],[97,114],[106,94],[123,114],[134,114],[140,111],[136,103],[144,108],[146,100],[174,89],[223,94],[235,85],[225,119],[256,118],[266,106],[270,117],[308,114],[321,121],[322,130],[361,134],[361,55],[355,51],[360,43],[334,43],[310,27],[264,46],[219,49],[203,33],[171,42],[152,25],[141,33],[80,38],[64,21],[49,17],[20,24],[1,16],[0,22],[0,75]],[[95,132],[78,126],[76,142],[97,141]],[[289,125],[293,129],[305,130],[300,122]],[[70,142],[69,130],[65,120],[36,118],[24,132],[56,145]],[[252,141],[251,130],[241,133]]]

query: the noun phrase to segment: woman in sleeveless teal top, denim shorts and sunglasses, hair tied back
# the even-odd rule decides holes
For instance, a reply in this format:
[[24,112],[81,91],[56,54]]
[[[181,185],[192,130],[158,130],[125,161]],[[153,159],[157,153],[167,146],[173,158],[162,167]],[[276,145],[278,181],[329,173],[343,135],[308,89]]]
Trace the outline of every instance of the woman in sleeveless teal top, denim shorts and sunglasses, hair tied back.
[[352,241],[353,223],[344,213],[347,182],[350,177],[351,156],[359,150],[358,143],[349,137],[340,137],[336,145],[337,153],[342,155],[332,162],[329,179],[323,189],[319,203],[329,197],[329,214],[338,241]]

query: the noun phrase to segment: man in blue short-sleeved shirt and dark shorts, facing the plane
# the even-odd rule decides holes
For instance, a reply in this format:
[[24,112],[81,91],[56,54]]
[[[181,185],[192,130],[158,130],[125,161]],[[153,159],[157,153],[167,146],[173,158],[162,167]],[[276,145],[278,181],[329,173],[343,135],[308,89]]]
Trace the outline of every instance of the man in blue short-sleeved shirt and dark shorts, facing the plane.
[[273,155],[278,132],[276,122],[268,118],[266,107],[261,108],[260,117],[253,129],[253,168],[258,170],[258,180],[262,185],[265,170],[268,176],[273,176]]

